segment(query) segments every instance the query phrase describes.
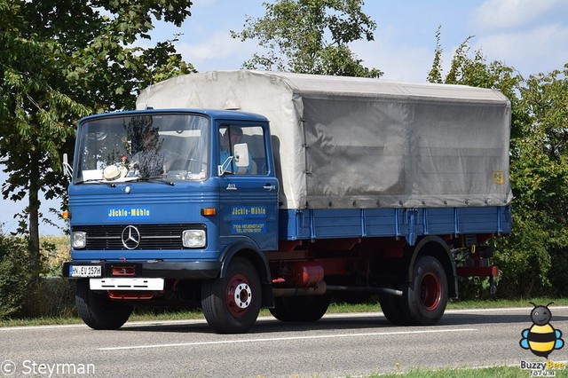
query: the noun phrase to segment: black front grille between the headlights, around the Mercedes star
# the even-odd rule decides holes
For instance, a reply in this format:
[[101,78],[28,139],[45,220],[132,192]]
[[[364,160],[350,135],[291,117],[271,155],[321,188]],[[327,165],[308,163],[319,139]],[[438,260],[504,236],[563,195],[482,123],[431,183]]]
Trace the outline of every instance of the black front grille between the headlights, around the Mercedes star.
[[[122,232],[129,225],[140,233],[135,248],[126,248],[122,243]],[[75,225],[72,232],[86,232],[87,245],[82,250],[188,249],[182,244],[182,232],[204,228],[203,224],[102,224]]]

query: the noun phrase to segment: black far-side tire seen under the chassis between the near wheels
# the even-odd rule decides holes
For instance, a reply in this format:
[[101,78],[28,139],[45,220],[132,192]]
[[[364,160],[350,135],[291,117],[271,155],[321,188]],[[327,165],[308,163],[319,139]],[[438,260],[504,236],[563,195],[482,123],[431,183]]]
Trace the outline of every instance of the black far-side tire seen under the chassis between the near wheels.
[[274,298],[270,313],[280,321],[313,322],[325,315],[330,302],[329,295],[280,296]]

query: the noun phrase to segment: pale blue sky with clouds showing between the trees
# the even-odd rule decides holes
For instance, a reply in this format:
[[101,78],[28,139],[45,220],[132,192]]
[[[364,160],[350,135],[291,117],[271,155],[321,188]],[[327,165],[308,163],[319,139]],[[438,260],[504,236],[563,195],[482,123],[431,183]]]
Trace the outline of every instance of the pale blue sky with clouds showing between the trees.
[[[153,43],[183,33],[177,51],[198,71],[240,68],[257,46],[231,38],[229,30],[241,31],[247,16],[263,16],[263,1],[193,3],[192,16],[182,28],[160,23]],[[562,69],[568,63],[568,0],[367,0],[363,11],[377,24],[375,41],[353,43],[351,51],[363,59],[364,66],[381,69],[385,79],[425,82],[438,26],[446,70],[455,49],[470,35],[473,50],[481,49],[488,61],[501,60],[525,77]],[[0,171],[0,182],[5,179]],[[13,215],[24,206],[0,200],[3,232],[15,231]],[[58,201],[44,203],[43,214],[58,206]],[[44,224],[40,232],[61,233]]]

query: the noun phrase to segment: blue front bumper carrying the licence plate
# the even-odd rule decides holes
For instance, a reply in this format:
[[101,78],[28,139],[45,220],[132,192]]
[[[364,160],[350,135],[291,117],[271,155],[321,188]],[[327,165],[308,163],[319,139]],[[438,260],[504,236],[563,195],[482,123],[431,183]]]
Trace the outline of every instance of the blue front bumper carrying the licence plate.
[[[63,263],[63,277],[72,277],[71,266],[100,266],[101,275],[89,278],[124,277],[117,272],[127,271],[129,277],[162,278],[176,280],[209,280],[219,277],[221,262],[217,261],[146,261],[146,262],[108,262],[108,261],[67,261]],[[130,273],[133,272],[133,273]]]

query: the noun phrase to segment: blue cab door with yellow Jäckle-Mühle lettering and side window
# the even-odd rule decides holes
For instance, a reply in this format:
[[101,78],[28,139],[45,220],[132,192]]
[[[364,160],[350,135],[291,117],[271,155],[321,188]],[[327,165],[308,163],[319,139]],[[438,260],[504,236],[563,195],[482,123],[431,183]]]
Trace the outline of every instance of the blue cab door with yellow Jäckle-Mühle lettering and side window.
[[[278,179],[269,159],[268,123],[221,122],[219,161],[220,234],[254,240],[262,250],[278,248]],[[248,164],[237,163],[234,145],[248,148]]]

